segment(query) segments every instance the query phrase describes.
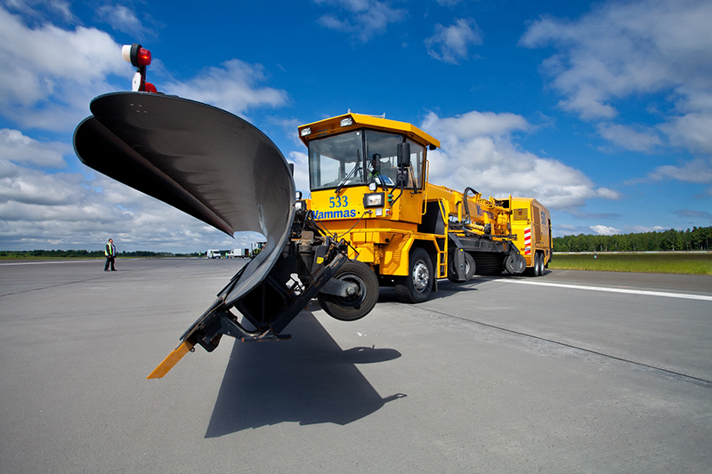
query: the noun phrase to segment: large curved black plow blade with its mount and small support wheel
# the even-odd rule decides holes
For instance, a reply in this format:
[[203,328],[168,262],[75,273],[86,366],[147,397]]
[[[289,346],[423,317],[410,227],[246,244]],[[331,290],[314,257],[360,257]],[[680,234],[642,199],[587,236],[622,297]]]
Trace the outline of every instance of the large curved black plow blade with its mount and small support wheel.
[[[165,375],[195,345],[223,335],[285,339],[285,326],[317,295],[329,314],[354,320],[376,303],[378,282],[346,258],[344,243],[295,213],[295,186],[272,141],[238,116],[192,100],[146,92],[101,95],[74,135],[86,165],[221,229],[260,232],[267,244],[150,374]],[[347,272],[340,272],[344,262]],[[342,308],[343,307],[343,308]]]

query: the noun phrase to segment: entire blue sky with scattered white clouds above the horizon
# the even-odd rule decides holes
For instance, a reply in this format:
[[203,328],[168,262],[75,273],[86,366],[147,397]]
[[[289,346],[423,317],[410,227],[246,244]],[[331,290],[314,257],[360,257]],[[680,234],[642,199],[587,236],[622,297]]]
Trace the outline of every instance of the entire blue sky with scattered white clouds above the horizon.
[[89,102],[162,92],[296,126],[354,112],[442,143],[430,181],[537,197],[554,236],[712,225],[712,3],[687,0],[0,1],[0,249],[195,252],[235,239],[82,165]]

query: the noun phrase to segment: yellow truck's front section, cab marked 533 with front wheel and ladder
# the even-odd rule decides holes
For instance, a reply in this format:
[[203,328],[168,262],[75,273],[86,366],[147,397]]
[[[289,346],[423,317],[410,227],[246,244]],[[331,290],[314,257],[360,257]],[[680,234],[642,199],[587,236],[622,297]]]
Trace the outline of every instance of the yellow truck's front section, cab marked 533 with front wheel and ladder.
[[[447,213],[427,205],[427,152],[414,125],[348,113],[299,127],[309,149],[309,207],[404,301],[425,301],[447,271]],[[432,214],[432,215],[431,215]],[[434,215],[434,219],[433,219]]]

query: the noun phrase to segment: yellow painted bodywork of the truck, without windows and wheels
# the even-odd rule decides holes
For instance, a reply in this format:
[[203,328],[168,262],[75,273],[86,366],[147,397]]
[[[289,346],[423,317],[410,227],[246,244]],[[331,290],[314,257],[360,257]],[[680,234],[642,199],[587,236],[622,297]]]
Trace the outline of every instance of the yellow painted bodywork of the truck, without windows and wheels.
[[[344,119],[350,119],[351,125],[342,126]],[[359,128],[401,133],[426,148],[440,147],[440,141],[413,125],[353,113],[302,125],[299,134],[303,143],[309,146],[311,140]],[[309,129],[308,134],[303,134],[305,129]],[[408,275],[409,251],[413,245],[418,245],[430,249],[436,274],[438,277],[446,277],[447,234],[456,232],[465,235],[464,230],[448,229],[449,219],[465,222],[468,232],[479,235],[489,233],[494,240],[512,240],[525,256],[527,265],[531,266],[533,258],[530,258],[529,253],[524,253],[524,232],[529,228],[531,238],[537,242],[530,246],[530,253],[533,255],[536,250],[542,249],[546,252],[546,261],[550,259],[550,217],[543,205],[531,198],[510,196],[506,199],[485,199],[480,193],[470,192],[465,207],[462,191],[427,182],[427,158],[424,157],[424,160],[424,189],[403,189],[401,192],[401,189],[378,186],[376,191],[370,191],[368,186],[351,186],[339,189],[338,193],[336,189],[319,189],[312,191],[308,206],[320,226],[327,229],[330,235],[345,238],[352,245],[350,258],[368,263],[381,275]],[[383,207],[364,206],[364,197],[373,192],[384,193]],[[418,230],[418,226],[423,224],[426,203],[433,202],[440,206],[441,217],[444,219],[445,230],[441,235]],[[469,221],[465,215],[467,210]],[[532,221],[535,213],[538,218],[536,222]]]

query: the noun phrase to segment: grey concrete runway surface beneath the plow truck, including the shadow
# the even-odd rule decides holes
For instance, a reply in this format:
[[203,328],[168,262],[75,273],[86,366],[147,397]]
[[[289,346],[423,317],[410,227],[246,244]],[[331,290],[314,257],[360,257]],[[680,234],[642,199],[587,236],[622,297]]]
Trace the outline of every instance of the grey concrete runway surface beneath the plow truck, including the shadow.
[[712,277],[384,288],[144,380],[243,263],[0,262],[3,471],[712,471]]

